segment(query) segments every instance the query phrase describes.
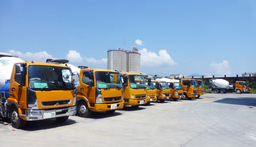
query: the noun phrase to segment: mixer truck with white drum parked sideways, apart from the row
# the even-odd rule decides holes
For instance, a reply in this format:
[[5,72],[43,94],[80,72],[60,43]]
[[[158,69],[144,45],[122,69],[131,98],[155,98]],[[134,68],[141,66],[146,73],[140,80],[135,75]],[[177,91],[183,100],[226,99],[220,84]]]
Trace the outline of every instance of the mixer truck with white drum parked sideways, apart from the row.
[[244,81],[236,81],[234,84],[229,84],[227,80],[210,79],[210,85],[207,89],[209,88],[211,88],[210,90],[215,94],[225,94],[226,92],[236,92],[237,94],[252,93],[249,83]]

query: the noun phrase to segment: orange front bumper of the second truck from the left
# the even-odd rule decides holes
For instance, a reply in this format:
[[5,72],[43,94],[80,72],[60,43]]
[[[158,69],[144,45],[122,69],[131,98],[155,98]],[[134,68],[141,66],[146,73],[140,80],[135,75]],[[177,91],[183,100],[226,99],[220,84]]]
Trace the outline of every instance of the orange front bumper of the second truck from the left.
[[117,108],[116,109],[111,109],[111,104],[94,104],[94,108],[89,108],[90,110],[92,111],[95,111],[95,112],[101,112],[101,111],[109,111],[109,110],[116,110],[116,109],[121,109],[124,107],[124,102],[121,101],[121,102],[118,102],[118,103],[114,103],[117,105]]

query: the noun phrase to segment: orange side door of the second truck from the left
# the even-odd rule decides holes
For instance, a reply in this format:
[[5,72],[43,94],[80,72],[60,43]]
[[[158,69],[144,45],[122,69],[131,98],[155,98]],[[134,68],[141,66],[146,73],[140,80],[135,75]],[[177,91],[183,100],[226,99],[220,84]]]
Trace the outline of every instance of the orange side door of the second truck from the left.
[[88,99],[89,103],[95,103],[95,81],[89,79],[89,72],[89,70],[83,70],[83,77],[79,90],[81,94]]

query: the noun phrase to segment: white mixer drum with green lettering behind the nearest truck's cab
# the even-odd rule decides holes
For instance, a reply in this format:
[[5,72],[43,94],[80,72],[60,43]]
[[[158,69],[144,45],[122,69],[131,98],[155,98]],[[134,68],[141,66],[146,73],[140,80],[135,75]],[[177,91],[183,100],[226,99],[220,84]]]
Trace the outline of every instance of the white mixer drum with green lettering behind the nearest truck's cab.
[[0,87],[5,84],[6,80],[10,80],[14,63],[24,62],[16,57],[0,57]]

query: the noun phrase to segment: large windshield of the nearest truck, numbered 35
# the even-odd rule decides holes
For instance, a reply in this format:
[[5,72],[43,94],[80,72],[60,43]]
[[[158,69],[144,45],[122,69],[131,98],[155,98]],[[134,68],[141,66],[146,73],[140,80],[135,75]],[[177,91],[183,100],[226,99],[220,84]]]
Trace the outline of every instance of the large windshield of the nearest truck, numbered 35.
[[[69,75],[67,79],[63,77],[65,73]],[[71,75],[69,68],[31,65],[28,68],[29,88],[33,90],[74,90]]]

